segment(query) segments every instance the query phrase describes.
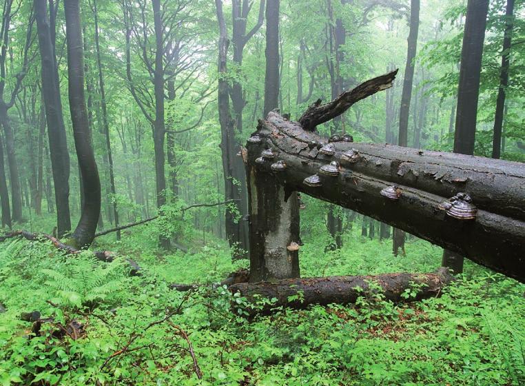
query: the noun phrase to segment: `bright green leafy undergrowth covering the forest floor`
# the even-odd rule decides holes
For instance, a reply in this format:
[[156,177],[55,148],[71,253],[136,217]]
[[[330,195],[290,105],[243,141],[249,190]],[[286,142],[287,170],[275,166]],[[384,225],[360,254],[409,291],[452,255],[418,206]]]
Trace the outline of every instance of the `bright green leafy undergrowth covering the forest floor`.
[[[316,234],[305,234],[302,276],[440,265],[439,247],[409,240],[407,255],[393,257],[391,240],[362,237],[357,228],[342,250],[328,253]],[[45,241],[2,243],[0,383],[525,385],[525,285],[469,261],[439,298],[394,305],[378,295],[248,321],[245,299],[223,287],[169,290],[215,283],[247,261],[231,263],[225,243],[208,236],[203,244],[202,233],[187,253],[156,250],[155,238],[144,225],[123,241],[107,235],[93,246],[134,258],[143,268],[135,277],[125,257],[100,263],[89,252],[64,256]],[[20,320],[35,310],[48,318],[39,336]]]

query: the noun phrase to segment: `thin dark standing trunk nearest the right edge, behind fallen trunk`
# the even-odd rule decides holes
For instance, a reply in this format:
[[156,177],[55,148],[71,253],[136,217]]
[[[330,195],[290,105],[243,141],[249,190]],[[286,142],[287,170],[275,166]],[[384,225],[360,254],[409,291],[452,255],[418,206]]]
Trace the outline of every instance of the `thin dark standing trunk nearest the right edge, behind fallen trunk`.
[[503,113],[505,94],[508,84],[508,65],[511,57],[511,37],[513,29],[514,0],[507,0],[505,12],[505,34],[503,38],[502,68],[500,72],[500,89],[497,92],[496,114],[494,119],[494,137],[492,141],[492,158],[500,158],[502,152]]

